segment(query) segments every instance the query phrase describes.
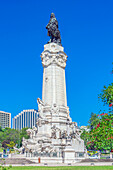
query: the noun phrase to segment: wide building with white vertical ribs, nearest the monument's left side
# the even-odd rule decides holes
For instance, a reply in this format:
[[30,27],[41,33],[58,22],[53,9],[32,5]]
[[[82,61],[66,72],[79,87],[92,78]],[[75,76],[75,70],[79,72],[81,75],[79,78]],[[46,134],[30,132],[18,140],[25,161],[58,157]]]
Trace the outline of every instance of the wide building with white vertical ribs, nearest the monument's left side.
[[33,128],[36,126],[38,111],[35,109],[23,110],[13,118],[13,129]]

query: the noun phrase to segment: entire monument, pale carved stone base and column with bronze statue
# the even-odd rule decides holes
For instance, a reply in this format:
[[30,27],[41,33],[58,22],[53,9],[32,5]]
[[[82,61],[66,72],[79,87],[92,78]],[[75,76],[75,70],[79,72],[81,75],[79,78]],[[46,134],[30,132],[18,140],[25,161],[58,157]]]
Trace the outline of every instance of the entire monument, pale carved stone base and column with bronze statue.
[[[65,67],[67,55],[61,45],[58,22],[52,13],[46,26],[50,41],[41,54],[43,65],[42,100],[37,99],[37,128],[28,129],[30,139],[23,139],[26,155],[42,162],[74,163],[85,153],[81,130],[69,114],[66,97]],[[46,158],[46,159],[44,159]]]

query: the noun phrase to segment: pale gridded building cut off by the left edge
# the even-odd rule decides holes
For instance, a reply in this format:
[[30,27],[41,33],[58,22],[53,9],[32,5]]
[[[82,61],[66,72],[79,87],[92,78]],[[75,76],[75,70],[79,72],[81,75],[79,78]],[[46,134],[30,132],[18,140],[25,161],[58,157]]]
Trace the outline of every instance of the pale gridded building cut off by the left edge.
[[4,129],[11,128],[11,113],[0,111],[0,126]]

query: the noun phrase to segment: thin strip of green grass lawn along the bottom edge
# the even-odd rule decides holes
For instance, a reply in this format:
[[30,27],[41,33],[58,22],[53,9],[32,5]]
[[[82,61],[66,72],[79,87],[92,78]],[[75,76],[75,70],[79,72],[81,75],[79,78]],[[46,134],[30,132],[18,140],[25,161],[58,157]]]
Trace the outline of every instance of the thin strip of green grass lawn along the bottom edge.
[[12,167],[11,170],[111,170],[113,166]]

